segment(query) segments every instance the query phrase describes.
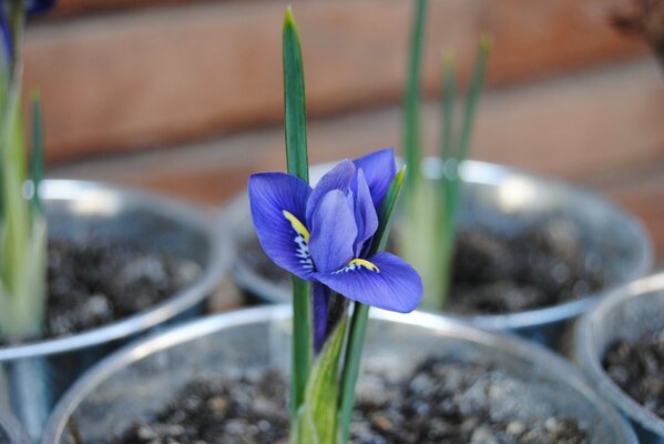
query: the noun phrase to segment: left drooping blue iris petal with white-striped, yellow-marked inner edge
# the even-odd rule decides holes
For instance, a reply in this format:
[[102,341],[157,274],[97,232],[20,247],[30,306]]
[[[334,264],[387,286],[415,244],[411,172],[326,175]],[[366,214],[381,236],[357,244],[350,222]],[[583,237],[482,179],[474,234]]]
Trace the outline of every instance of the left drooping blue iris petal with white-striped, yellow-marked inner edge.
[[309,279],[314,266],[305,239],[308,233],[305,236],[296,230],[285,212],[304,221],[310,186],[286,173],[259,173],[249,176],[248,189],[252,219],[265,253],[280,268]]

